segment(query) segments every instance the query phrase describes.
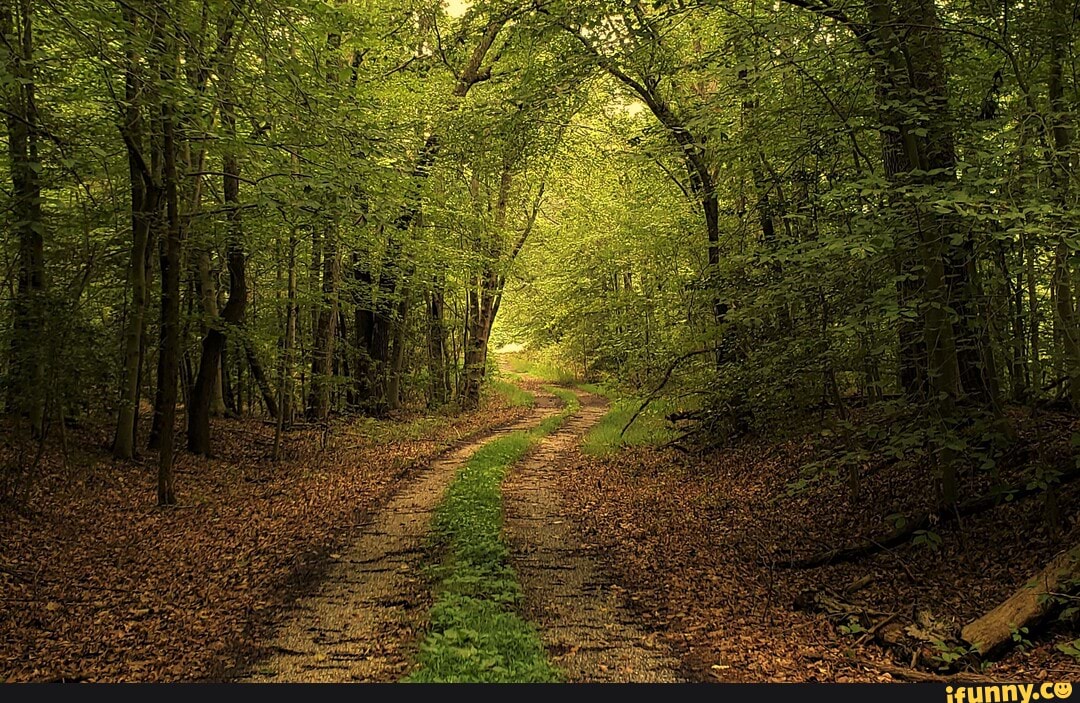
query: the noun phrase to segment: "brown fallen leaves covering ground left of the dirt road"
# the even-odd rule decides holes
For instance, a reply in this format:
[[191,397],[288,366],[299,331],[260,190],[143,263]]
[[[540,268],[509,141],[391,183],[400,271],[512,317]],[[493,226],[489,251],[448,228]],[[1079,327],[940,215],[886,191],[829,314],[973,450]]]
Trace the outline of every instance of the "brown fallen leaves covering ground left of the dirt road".
[[68,458],[50,445],[31,494],[0,512],[0,681],[227,676],[404,476],[524,414],[298,429],[276,463],[272,425],[216,421],[219,456],[180,451],[165,510],[156,456],[112,461],[106,428],[68,431]]

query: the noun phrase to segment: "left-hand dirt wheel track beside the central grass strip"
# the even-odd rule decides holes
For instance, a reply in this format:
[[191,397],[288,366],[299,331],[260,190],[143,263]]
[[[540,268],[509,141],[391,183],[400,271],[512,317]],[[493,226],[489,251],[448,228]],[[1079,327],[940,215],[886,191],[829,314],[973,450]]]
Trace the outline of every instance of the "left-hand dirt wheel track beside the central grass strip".
[[558,411],[554,396],[536,397],[527,418],[448,452],[399,490],[336,557],[319,590],[283,614],[266,645],[273,653],[239,680],[384,682],[406,674],[431,605],[419,569],[432,511],[480,447]]

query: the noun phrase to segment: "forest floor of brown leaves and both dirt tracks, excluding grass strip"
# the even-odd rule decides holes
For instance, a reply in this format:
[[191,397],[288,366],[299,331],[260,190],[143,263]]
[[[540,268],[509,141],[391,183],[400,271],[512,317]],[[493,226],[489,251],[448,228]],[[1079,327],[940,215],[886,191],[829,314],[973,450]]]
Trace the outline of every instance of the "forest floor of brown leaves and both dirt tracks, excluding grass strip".
[[[272,427],[216,422],[220,455],[180,452],[181,506],[153,503],[153,462],[116,462],[104,428],[50,445],[18,510],[0,513],[0,680],[400,680],[432,603],[424,578],[431,512],[456,470],[509,429],[556,411],[491,398],[457,416],[297,429],[268,458]],[[747,437],[705,456],[626,448],[586,456],[606,402],[581,409],[503,484],[505,539],[523,614],[568,680],[890,681],[937,672],[947,638],[1080,540],[1080,484],[1005,503],[848,564],[784,565],[873,535],[932,500],[924,472],[881,464],[858,499],[822,482],[787,487],[816,440]],[[1055,465],[1075,429],[1016,418],[1018,442]],[[1058,427],[1059,425],[1059,427]],[[10,436],[6,433],[5,436]],[[1047,437],[1057,437],[1048,441]],[[1056,444],[1055,444],[1056,442]],[[65,447],[67,449],[65,449]],[[14,461],[17,446],[0,448]],[[1002,479],[1016,483],[1017,464]],[[988,488],[964,476],[966,495]],[[859,586],[846,593],[850,584]],[[903,653],[797,604],[846,594],[918,644]],[[1074,680],[1057,649],[1075,627],[1025,634],[1000,661],[961,677]]]

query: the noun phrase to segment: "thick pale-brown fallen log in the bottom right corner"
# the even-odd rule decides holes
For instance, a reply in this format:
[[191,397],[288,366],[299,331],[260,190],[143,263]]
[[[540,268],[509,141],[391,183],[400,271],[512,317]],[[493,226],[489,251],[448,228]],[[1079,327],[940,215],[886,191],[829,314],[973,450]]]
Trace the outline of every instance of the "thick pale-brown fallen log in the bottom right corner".
[[1037,624],[1055,609],[1053,595],[1080,580],[1080,546],[1058,554],[1041,571],[994,610],[964,625],[960,637],[980,655],[1013,641],[1013,633]]

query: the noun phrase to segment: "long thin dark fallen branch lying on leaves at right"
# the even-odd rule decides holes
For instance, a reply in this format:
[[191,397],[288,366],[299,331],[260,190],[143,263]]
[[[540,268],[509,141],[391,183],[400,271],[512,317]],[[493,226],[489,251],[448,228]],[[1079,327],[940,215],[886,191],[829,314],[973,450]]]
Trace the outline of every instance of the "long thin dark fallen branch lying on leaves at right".
[[[1065,484],[1077,481],[1078,478],[1080,478],[1080,470],[1069,471],[1062,474],[1057,485],[1064,486]],[[986,496],[981,496],[980,498],[958,503],[953,509],[942,509],[935,512],[923,513],[922,515],[918,515],[916,517],[905,518],[903,525],[882,537],[862,540],[847,546],[825,550],[824,552],[819,552],[812,556],[801,559],[789,559],[786,562],[778,559],[777,566],[792,569],[810,569],[818,566],[825,566],[826,564],[853,562],[854,559],[864,556],[870,556],[872,554],[877,554],[894,546],[900,546],[901,544],[908,542],[916,532],[928,529],[933,525],[953,523],[961,517],[975,515],[977,513],[997,508],[1003,502],[1007,502],[1007,498],[1009,496],[1011,496],[1012,499],[1008,502],[1015,503],[1043,492],[1044,490],[1042,488],[1026,486],[1023,488],[997,490]]]

